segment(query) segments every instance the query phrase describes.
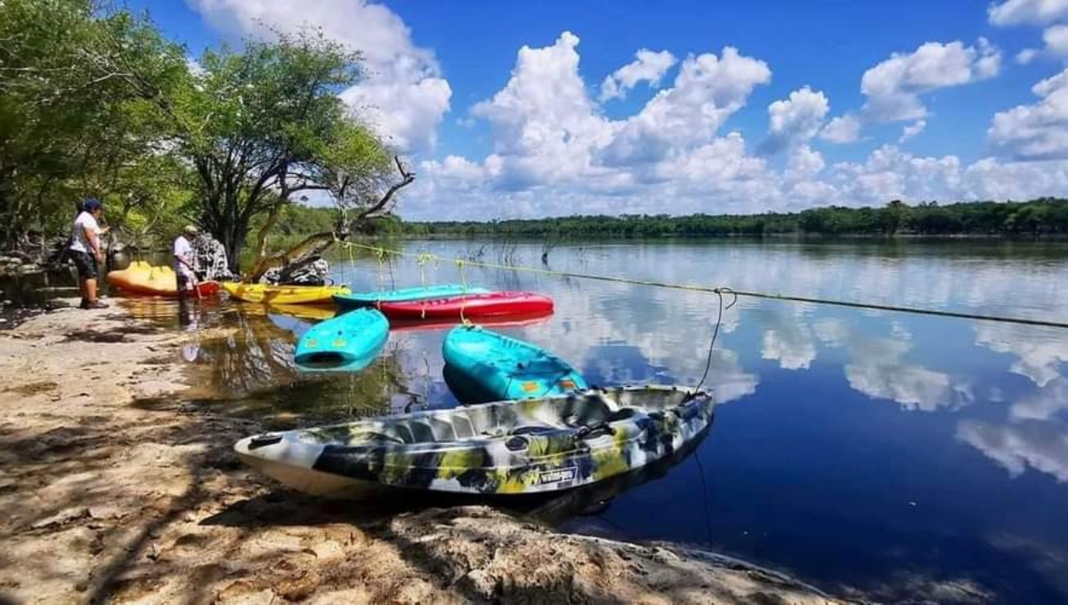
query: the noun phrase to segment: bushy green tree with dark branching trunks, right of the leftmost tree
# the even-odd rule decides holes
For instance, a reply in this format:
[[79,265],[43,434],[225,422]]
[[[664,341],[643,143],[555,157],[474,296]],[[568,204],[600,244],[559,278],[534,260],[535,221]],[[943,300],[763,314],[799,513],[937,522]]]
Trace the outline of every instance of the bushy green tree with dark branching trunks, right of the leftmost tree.
[[[173,102],[180,152],[199,180],[202,224],[238,267],[252,220],[277,224],[298,192],[374,181],[390,170],[382,144],[337,93],[360,78],[361,55],[317,30],[208,51]],[[342,191],[341,193],[345,193]]]

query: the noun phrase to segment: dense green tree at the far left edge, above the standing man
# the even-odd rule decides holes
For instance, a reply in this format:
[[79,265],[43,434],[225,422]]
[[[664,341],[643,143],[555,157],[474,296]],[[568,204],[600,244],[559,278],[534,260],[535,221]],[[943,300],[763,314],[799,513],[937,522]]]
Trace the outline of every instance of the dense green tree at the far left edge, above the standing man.
[[[89,0],[0,2],[0,221],[3,245],[32,224],[58,229],[74,201],[161,138],[161,86],[184,51],[146,19]],[[135,126],[136,125],[136,126]]]

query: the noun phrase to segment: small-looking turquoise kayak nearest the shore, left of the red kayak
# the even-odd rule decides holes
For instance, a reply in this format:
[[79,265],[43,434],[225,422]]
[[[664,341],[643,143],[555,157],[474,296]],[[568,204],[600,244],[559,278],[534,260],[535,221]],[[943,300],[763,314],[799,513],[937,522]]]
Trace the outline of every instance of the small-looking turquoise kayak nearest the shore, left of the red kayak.
[[390,335],[390,322],[374,308],[344,313],[313,325],[297,341],[301,369],[358,370],[373,362]]

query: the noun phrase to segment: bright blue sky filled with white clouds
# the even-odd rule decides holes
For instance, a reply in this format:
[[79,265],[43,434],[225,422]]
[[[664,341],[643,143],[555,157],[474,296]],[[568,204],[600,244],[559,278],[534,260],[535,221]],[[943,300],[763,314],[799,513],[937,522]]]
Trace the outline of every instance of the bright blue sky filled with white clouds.
[[191,59],[321,27],[406,219],[1068,196],[1068,0],[131,0]]

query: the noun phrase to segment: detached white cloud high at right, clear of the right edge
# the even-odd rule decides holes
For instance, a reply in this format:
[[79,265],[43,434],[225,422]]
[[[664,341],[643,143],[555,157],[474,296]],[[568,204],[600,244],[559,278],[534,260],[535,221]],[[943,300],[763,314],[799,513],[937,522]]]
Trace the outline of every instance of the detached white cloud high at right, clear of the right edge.
[[911,53],[894,53],[861,78],[868,97],[864,115],[874,122],[925,117],[921,94],[992,78],[1000,68],[1001,51],[984,38],[975,46],[928,42]]

